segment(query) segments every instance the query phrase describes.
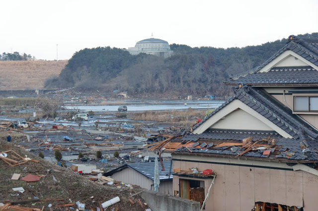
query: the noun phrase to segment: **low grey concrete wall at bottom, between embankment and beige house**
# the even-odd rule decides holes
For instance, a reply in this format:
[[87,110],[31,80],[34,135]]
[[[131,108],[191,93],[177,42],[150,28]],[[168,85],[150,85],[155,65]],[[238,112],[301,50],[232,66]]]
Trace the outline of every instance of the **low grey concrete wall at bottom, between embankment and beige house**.
[[143,191],[141,197],[152,211],[200,211],[200,203],[154,191]]

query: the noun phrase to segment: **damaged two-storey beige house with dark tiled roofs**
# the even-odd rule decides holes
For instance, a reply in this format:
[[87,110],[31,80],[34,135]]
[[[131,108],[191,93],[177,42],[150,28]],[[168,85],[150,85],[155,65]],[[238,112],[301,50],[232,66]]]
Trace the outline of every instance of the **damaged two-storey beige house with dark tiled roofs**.
[[158,144],[172,153],[174,195],[206,211],[318,210],[318,39],[290,36],[225,84],[233,97]]

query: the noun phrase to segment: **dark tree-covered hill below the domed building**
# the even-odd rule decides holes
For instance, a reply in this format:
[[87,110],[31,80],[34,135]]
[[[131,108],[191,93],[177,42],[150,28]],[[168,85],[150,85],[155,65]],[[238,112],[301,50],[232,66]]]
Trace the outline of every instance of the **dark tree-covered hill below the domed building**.
[[[318,33],[298,35],[318,37]],[[222,84],[229,75],[251,70],[275,54],[286,39],[244,48],[191,48],[171,44],[173,55],[130,55],[118,48],[98,47],[76,52],[57,78],[47,87],[120,89],[129,94],[176,93],[227,96],[231,87]]]

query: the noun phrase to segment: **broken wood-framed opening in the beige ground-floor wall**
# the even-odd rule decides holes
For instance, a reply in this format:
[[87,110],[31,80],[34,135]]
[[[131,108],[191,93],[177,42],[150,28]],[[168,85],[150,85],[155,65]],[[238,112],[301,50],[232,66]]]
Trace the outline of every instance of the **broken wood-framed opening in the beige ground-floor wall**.
[[200,202],[202,206],[205,198],[204,181],[180,179],[180,197]]

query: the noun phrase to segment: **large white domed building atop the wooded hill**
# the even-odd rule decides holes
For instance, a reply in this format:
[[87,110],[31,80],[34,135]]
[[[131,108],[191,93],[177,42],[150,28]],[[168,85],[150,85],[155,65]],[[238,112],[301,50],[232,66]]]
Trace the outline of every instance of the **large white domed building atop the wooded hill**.
[[145,53],[164,58],[171,56],[173,53],[167,41],[155,39],[153,34],[150,39],[141,40],[136,43],[135,47],[128,48],[128,51],[132,55]]

